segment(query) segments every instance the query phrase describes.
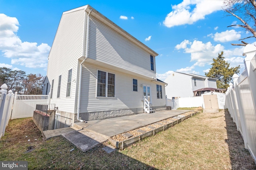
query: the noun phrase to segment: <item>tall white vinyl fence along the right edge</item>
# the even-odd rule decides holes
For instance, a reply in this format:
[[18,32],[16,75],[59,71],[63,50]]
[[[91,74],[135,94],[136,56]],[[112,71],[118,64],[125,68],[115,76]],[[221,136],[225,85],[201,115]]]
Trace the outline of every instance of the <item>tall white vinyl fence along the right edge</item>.
[[245,70],[226,92],[226,105],[237,130],[244,139],[244,147],[256,162],[256,47],[246,45],[243,55]]

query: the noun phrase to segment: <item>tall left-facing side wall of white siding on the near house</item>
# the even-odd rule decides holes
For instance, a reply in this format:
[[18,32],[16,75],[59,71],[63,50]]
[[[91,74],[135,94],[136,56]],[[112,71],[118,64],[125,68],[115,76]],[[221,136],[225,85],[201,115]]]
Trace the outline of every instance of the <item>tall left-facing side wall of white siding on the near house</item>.
[[[48,62],[48,81],[54,87],[51,104],[56,104],[60,111],[74,113],[78,58],[82,57],[84,38],[84,10],[63,14]],[[70,97],[66,97],[68,70],[72,69]],[[57,98],[58,80],[61,77],[60,98]],[[50,92],[51,87],[48,87]]]

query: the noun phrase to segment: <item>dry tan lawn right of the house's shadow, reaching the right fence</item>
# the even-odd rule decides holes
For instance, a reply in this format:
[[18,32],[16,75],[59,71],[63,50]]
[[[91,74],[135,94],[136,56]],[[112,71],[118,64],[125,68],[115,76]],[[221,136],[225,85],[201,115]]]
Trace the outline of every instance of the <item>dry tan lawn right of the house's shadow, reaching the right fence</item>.
[[122,153],[158,169],[256,169],[234,127],[224,110],[200,113]]

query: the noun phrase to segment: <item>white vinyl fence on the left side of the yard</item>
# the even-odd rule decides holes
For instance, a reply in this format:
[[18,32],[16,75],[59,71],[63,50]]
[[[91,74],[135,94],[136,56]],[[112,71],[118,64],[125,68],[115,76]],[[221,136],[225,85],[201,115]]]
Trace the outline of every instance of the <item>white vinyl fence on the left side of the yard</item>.
[[17,92],[14,95],[12,90],[7,94],[6,84],[0,88],[0,139],[10,119],[33,117],[36,104],[50,103],[49,95],[18,95]]

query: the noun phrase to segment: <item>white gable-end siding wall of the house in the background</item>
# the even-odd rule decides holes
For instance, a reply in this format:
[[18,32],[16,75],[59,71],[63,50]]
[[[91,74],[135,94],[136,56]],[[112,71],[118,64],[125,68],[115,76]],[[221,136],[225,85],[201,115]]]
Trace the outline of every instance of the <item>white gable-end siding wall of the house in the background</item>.
[[172,97],[193,97],[190,76],[173,72],[164,82],[168,83],[168,86],[165,88],[168,99],[172,99]]

